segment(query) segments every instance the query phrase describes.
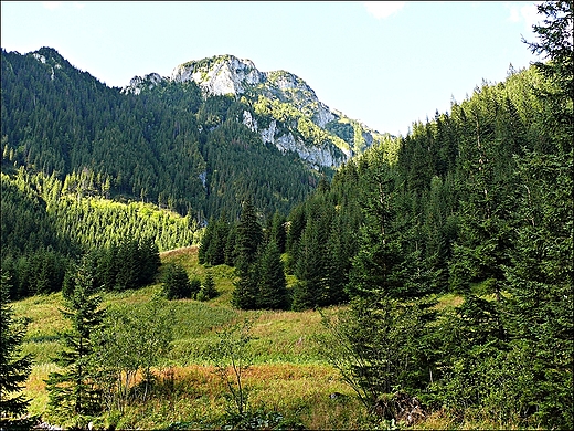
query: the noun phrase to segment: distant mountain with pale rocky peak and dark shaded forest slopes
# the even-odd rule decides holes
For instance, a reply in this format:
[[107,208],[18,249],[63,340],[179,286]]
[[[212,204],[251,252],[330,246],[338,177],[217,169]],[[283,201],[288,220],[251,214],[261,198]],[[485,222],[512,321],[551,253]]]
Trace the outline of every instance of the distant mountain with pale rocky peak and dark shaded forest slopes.
[[237,217],[247,197],[262,214],[287,213],[320,177],[386,138],[328,108],[298,76],[232,55],[124,88],[51,48],[2,50],[1,62],[4,172],[55,175],[66,190],[152,202],[200,223]]

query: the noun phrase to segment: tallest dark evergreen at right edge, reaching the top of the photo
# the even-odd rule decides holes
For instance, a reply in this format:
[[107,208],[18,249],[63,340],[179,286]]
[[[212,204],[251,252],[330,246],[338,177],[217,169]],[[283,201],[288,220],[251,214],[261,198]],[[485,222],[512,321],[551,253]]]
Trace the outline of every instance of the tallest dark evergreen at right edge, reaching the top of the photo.
[[574,13],[572,1],[538,6],[544,20],[534,25],[533,52],[546,62],[536,69],[548,78],[536,88],[544,113],[545,147],[518,158],[520,181],[517,241],[507,277],[512,346],[528,358],[533,375],[530,406],[551,428],[574,427]]

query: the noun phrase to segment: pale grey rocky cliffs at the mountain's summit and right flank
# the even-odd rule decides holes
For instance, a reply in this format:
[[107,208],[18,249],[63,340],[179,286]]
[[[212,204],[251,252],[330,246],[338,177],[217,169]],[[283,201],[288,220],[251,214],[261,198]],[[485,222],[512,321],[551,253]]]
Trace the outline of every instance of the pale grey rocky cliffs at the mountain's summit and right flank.
[[[253,104],[259,103],[262,97],[274,103],[275,107],[289,112],[289,122],[278,118],[274,111],[269,111],[270,120],[265,122],[267,127],[259,127],[257,115],[245,111],[243,122],[253,132],[259,134],[264,143],[275,145],[281,151],[295,151],[299,157],[313,167],[338,167],[350,157],[371,146],[379,135],[359,122],[353,127],[360,128],[362,136],[361,148],[353,146],[351,139],[342,139],[330,132],[326,126],[342,119],[349,122],[340,112],[330,109],[320,102],[313,90],[300,77],[286,72],[261,72],[251,60],[237,59],[233,55],[219,55],[199,61],[183,63],[173,69],[171,76],[161,77],[157,73],[135,76],[129,85],[123,90],[125,93],[139,94],[142,88],[152,88],[162,81],[184,83],[193,81],[204,97],[214,95],[232,95],[236,98],[246,97]],[[295,112],[293,109],[296,109]],[[285,115],[285,114],[281,114]],[[279,120],[283,119],[283,120]],[[309,134],[309,125],[304,124],[308,119],[322,130]],[[310,143],[305,138],[301,128],[305,126],[308,135],[321,136]]]

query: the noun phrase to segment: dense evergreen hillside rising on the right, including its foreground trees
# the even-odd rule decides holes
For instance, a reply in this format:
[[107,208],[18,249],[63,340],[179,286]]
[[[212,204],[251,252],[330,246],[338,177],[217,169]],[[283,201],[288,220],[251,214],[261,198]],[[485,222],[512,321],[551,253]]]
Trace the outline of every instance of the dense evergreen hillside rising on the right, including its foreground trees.
[[[387,419],[404,391],[458,418],[572,428],[572,3],[540,11],[530,46],[546,63],[413,124],[397,154],[370,148],[287,217],[291,307],[350,304],[327,355]],[[203,238],[211,263],[232,251],[221,223]],[[240,261],[236,305],[266,308],[242,295],[261,297],[268,271]],[[463,305],[437,313],[445,293]]]

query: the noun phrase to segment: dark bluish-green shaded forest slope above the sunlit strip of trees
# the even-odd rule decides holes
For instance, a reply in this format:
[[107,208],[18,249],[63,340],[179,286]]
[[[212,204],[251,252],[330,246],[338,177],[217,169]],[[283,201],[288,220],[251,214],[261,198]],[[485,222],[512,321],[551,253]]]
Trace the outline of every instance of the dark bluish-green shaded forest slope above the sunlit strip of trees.
[[235,218],[252,190],[265,212],[287,212],[318,176],[241,123],[255,102],[203,99],[192,82],[126,94],[53,49],[2,50],[3,166],[55,174],[76,199],[155,202],[200,223]]

